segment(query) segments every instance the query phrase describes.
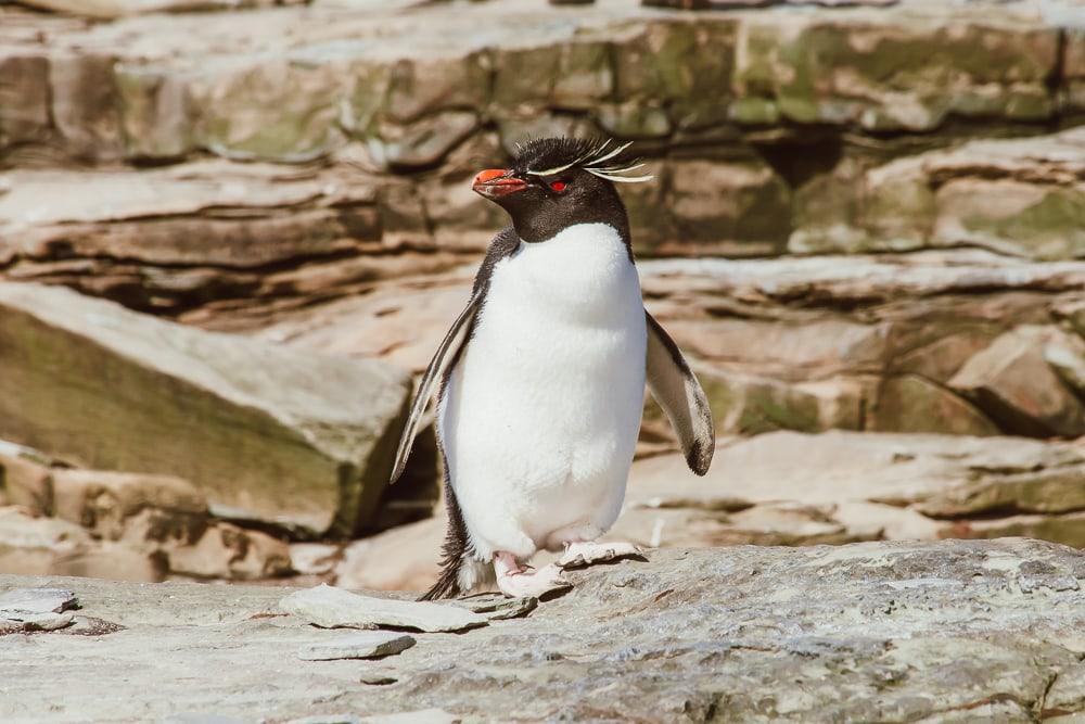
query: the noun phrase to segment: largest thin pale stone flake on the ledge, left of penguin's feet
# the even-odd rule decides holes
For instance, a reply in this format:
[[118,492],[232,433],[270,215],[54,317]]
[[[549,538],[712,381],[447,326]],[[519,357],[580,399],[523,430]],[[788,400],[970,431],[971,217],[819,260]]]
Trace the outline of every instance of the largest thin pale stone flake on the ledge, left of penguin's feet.
[[485,617],[455,606],[359,596],[328,584],[293,593],[280,601],[280,608],[323,628],[394,626],[436,632],[486,625]]

